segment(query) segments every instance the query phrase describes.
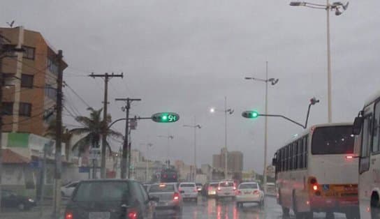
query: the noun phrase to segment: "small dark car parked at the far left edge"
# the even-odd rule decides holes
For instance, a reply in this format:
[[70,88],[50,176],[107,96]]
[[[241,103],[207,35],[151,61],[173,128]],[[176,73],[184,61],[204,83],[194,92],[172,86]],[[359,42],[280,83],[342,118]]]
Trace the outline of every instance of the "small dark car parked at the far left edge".
[[17,195],[10,190],[1,190],[1,206],[6,208],[17,208],[24,211],[36,206],[36,201],[30,197]]

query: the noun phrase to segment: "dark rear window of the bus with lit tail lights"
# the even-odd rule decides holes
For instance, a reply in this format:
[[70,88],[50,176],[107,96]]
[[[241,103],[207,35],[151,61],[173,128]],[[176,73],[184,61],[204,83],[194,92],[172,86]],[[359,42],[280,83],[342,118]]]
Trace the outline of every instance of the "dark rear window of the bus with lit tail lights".
[[353,153],[352,126],[316,128],[312,138],[312,154]]

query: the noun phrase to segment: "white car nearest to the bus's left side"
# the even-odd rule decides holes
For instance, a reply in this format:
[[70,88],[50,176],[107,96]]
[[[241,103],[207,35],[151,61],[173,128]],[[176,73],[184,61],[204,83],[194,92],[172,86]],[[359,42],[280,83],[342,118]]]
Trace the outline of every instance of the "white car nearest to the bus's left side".
[[236,206],[242,206],[244,203],[258,203],[263,206],[264,192],[260,190],[258,183],[241,183],[236,191]]

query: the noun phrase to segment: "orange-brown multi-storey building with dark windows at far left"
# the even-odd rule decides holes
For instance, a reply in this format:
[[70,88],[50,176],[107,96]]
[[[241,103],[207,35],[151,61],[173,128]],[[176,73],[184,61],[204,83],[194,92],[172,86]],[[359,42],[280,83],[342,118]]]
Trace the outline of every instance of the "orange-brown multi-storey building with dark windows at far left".
[[[3,132],[43,136],[54,118],[57,98],[57,51],[36,31],[0,28],[9,45],[24,52],[2,59]],[[62,61],[63,68],[67,64]]]

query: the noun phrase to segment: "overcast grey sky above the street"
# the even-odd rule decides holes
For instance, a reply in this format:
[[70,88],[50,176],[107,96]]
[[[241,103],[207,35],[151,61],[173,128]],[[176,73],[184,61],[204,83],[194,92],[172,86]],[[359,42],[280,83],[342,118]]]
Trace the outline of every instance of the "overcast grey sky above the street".
[[[325,3],[326,1],[312,1]],[[270,77],[269,112],[303,123],[309,98],[310,123],[327,121],[326,11],[288,6],[289,1],[256,0],[136,0],[136,1],[1,1],[0,26],[16,25],[39,31],[64,51],[69,68],[64,80],[89,105],[101,107],[103,80],[88,73],[121,73],[110,81],[109,111],[124,116],[114,98],[142,98],[131,114],[150,116],[173,111],[172,124],[140,121],[133,131],[133,148],[152,142],[152,153],[165,158],[166,139],[174,135],[170,156],[193,160],[193,134],[184,124],[193,116],[198,132],[198,165],[212,163],[224,145],[224,96],[235,113],[228,116],[228,149],[244,153],[244,169],[262,171],[263,118],[249,121],[244,110],[263,112],[265,84],[244,76]],[[331,15],[333,121],[353,121],[364,100],[378,90],[380,1],[351,1],[349,9]],[[67,104],[87,115],[86,106],[69,90]],[[66,116],[65,123],[75,124]],[[124,123],[115,129],[124,132]],[[269,119],[268,158],[301,128]],[[115,143],[115,142],[114,142]],[[115,143],[115,148],[119,147]]]

